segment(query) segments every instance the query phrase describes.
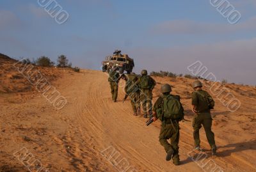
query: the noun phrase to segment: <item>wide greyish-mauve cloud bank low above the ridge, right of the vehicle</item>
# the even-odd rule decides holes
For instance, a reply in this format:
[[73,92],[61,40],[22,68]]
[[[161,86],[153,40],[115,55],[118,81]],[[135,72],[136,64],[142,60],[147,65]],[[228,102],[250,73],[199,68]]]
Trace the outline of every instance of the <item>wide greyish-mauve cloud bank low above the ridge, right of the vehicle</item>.
[[255,45],[256,38],[166,49],[141,47],[131,49],[129,56],[135,60],[136,72],[147,68],[189,74],[187,67],[199,60],[218,80],[256,84]]

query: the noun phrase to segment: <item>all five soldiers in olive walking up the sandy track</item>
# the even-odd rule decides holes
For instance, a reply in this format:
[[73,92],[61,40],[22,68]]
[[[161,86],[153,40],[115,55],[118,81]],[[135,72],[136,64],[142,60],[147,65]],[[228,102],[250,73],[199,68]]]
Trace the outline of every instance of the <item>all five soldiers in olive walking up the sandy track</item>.
[[[163,84],[161,86],[161,97],[157,98],[154,106],[152,106],[152,90],[156,86],[156,81],[147,70],[142,70],[141,75],[119,74],[117,68],[109,71],[109,84],[111,87],[111,95],[113,102],[116,102],[118,96],[118,82],[120,79],[125,81],[125,94],[131,98],[131,105],[134,116],[141,114],[141,104],[143,107],[143,117],[152,121],[161,120],[161,131],[159,134],[159,142],[166,151],[166,160],[173,160],[173,164],[178,166],[179,159],[179,137],[180,127],[179,121],[184,120],[184,109],[180,103],[179,95],[172,95],[172,86]],[[205,129],[207,141],[211,146],[212,155],[216,155],[216,144],[214,141],[214,133],[212,132],[211,109],[214,108],[214,100],[202,90],[202,82],[195,81],[192,84],[192,111],[195,113],[193,117],[193,138],[195,141],[195,150],[202,151],[200,147],[199,130],[202,125]],[[168,143],[168,139],[171,140]]]

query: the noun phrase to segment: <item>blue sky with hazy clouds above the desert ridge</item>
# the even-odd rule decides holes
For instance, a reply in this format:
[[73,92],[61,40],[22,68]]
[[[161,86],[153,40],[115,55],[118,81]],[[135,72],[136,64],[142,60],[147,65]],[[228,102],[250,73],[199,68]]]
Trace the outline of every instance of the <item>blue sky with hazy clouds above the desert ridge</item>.
[[[40,5],[47,1],[58,3],[67,21],[56,22]],[[100,70],[120,49],[138,73],[191,74],[188,66],[201,61],[220,81],[256,85],[256,1],[223,0],[241,14],[236,24],[214,1],[2,0],[0,52],[52,61],[65,54],[73,66]]]

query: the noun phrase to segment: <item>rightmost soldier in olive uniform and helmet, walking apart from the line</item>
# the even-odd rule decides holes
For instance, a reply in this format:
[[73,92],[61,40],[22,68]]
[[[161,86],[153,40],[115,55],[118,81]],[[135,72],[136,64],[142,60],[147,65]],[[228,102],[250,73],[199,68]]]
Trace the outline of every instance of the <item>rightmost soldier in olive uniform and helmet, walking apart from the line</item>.
[[207,141],[211,146],[212,155],[216,155],[216,145],[214,141],[214,133],[212,132],[212,117],[211,109],[214,107],[214,100],[211,95],[206,91],[202,90],[202,82],[194,81],[192,84],[195,90],[192,93],[192,111],[195,113],[193,118],[192,126],[194,129],[193,136],[195,140],[195,150],[201,150],[200,148],[200,137],[199,130],[202,125],[204,126]]

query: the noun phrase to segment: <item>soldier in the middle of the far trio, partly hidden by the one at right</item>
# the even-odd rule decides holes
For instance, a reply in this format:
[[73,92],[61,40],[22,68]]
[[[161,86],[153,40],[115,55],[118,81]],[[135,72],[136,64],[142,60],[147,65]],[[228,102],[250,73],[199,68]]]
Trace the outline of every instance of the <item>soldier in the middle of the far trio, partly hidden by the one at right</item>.
[[140,89],[136,84],[136,81],[138,81],[138,77],[132,72],[131,74],[128,74],[126,76],[123,75],[122,79],[125,80],[125,93],[131,98],[133,114],[134,116],[137,116],[137,112],[140,111]]

